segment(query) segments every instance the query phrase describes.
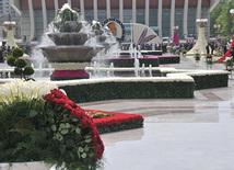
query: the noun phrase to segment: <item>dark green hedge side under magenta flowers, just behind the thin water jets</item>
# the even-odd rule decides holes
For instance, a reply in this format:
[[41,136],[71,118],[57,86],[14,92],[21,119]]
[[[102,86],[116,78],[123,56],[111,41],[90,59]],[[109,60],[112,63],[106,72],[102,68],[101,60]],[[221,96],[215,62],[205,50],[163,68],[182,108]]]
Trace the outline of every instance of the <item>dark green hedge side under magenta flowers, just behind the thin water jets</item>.
[[[129,59],[106,59],[105,64],[110,65],[114,64],[115,67],[134,67],[134,59],[129,58]],[[142,64],[144,64],[145,67],[149,67],[149,65],[152,65],[152,67],[159,67],[160,61],[159,58],[153,58],[153,59],[147,59],[147,58],[139,58],[140,67]]]

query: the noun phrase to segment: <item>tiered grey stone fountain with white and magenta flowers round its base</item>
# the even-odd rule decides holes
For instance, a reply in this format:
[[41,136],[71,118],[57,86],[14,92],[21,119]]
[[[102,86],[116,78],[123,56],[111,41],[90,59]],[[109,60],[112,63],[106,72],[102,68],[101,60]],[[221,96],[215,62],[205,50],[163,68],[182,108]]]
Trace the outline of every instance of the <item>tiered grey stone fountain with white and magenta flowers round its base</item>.
[[52,24],[54,31],[47,35],[56,45],[40,47],[43,55],[55,68],[50,80],[89,78],[84,68],[104,47],[100,45],[94,47],[85,43],[92,37],[92,32],[81,31],[84,26],[81,13],[71,10],[67,3],[58,12]]

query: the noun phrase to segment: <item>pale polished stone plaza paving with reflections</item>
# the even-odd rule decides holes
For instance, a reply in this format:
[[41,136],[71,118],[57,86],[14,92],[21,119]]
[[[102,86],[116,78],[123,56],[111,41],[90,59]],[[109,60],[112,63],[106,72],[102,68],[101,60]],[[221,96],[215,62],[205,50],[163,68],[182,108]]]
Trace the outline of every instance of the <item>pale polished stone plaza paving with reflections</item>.
[[[207,69],[203,61],[196,66],[191,59],[161,67]],[[215,64],[214,69],[224,66]],[[194,99],[112,100],[80,106],[144,117],[143,128],[101,135],[105,170],[234,169],[233,79],[227,88],[197,90]]]

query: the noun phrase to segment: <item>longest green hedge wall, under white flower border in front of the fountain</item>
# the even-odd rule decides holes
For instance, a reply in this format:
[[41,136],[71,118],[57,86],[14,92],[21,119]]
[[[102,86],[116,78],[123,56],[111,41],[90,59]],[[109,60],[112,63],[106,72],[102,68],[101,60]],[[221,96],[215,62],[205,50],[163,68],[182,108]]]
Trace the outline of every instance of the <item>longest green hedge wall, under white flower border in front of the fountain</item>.
[[75,103],[115,99],[194,98],[194,82],[102,82],[59,87]]

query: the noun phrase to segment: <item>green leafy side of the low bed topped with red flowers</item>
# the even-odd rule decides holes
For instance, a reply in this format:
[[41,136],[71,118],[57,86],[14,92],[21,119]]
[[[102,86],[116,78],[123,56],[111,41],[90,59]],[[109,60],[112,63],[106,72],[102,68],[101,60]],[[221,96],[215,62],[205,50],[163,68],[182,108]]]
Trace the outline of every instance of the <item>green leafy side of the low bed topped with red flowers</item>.
[[141,121],[129,121],[126,123],[121,124],[115,124],[115,125],[103,125],[103,126],[97,126],[97,129],[100,134],[104,133],[112,133],[112,132],[119,132],[119,131],[125,131],[125,129],[132,129],[132,128],[139,128],[143,127],[143,120]]

